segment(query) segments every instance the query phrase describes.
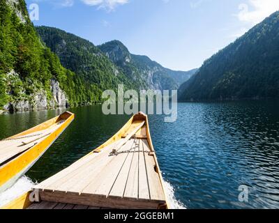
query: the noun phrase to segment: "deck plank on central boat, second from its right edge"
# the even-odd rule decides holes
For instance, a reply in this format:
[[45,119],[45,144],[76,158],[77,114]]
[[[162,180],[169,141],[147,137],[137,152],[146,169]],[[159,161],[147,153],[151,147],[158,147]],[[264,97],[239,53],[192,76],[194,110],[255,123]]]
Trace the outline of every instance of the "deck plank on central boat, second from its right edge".
[[[147,180],[145,154],[143,141],[140,139],[140,153],[139,153],[139,199],[150,199],[149,183]],[[148,169],[148,171],[151,171]]]

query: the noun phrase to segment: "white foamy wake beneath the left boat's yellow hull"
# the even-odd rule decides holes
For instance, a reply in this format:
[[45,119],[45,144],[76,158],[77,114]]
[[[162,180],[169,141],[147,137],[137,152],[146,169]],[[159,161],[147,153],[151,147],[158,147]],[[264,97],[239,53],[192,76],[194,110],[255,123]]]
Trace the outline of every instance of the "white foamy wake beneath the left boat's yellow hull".
[[30,178],[22,176],[12,187],[0,194],[0,207],[20,197],[20,195],[25,192],[28,192],[33,185],[35,185],[35,183],[33,183]]

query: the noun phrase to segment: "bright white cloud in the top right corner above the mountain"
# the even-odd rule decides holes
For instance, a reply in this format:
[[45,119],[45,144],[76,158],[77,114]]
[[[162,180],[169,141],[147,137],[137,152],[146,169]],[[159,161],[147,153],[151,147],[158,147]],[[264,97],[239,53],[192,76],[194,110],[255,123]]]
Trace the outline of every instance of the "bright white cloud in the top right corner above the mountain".
[[239,13],[236,16],[241,22],[255,25],[276,10],[279,10],[278,0],[248,0],[248,4],[239,5]]

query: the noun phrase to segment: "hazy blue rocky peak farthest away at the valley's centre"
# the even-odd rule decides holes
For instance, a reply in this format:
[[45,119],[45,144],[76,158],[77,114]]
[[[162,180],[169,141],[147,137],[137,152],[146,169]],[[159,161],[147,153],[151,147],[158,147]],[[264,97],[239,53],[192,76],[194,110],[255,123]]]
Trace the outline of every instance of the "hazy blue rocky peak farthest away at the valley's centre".
[[151,61],[148,56],[130,54],[127,47],[118,40],[110,41],[98,48],[130,79],[139,82],[142,89],[178,89],[180,84],[186,82],[197,71],[169,70],[156,61]]

